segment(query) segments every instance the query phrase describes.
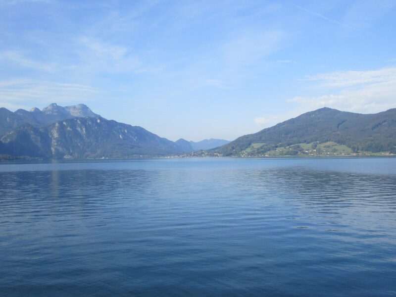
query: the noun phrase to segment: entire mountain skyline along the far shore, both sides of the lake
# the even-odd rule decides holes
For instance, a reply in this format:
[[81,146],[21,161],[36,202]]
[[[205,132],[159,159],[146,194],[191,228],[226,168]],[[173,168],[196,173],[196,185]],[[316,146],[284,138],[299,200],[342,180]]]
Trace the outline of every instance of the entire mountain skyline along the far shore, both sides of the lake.
[[40,158],[136,156],[351,155],[396,153],[396,108],[359,114],[328,107],[232,142],[159,137],[139,126],[107,120],[88,106],[50,104],[42,110],[0,108],[0,155]]

